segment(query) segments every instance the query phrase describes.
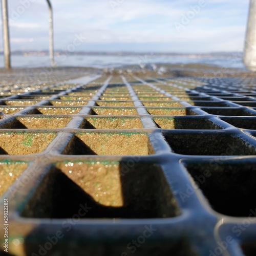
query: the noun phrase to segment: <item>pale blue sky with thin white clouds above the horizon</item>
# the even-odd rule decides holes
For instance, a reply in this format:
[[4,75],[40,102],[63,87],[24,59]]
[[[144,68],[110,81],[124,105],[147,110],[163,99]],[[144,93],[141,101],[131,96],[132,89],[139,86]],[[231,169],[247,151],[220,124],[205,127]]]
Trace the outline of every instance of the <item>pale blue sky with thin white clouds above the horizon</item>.
[[[249,0],[51,2],[54,48],[70,51],[242,51],[249,8]],[[9,0],[8,4],[11,49],[47,50],[46,1]]]

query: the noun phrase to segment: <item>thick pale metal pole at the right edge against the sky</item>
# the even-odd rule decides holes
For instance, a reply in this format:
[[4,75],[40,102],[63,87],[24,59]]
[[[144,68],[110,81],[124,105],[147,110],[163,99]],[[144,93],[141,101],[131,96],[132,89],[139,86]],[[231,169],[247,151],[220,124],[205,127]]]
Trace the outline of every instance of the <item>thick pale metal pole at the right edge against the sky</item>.
[[256,0],[250,0],[244,45],[244,64],[249,70],[256,71]]

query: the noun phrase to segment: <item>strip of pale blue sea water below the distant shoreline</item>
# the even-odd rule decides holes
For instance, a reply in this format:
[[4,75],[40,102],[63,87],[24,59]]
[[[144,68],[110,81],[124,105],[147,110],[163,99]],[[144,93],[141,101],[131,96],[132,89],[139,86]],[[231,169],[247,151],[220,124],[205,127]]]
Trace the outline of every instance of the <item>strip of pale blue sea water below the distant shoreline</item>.
[[[216,65],[225,68],[245,69],[243,60],[238,56],[203,56],[191,57],[167,56],[167,55],[66,55],[55,56],[55,62],[59,67],[94,67],[94,68],[117,68],[122,66],[145,66],[155,63],[168,64],[188,64],[203,63],[207,65]],[[11,63],[13,68],[35,68],[50,66],[49,56],[23,56],[12,55]],[[4,67],[4,57],[0,55],[0,67]]]

